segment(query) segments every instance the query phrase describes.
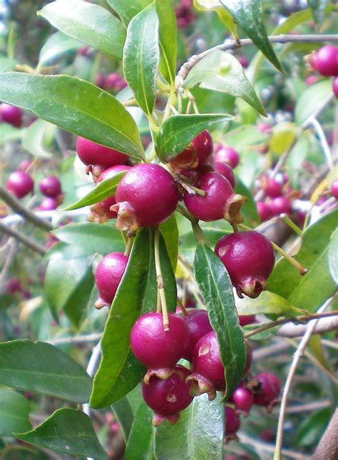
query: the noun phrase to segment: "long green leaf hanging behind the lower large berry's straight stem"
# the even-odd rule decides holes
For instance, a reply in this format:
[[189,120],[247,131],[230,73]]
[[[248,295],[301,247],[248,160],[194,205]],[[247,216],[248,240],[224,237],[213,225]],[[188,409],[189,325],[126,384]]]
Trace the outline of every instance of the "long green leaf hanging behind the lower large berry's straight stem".
[[[160,263],[167,307],[175,311],[175,277],[163,237],[160,238]],[[129,334],[141,313],[156,310],[156,302],[153,230],[143,228],[135,239],[126,272],[109,310],[101,339],[102,359],[94,379],[91,407],[106,407],[118,401],[140,382],[145,371],[130,351]]]

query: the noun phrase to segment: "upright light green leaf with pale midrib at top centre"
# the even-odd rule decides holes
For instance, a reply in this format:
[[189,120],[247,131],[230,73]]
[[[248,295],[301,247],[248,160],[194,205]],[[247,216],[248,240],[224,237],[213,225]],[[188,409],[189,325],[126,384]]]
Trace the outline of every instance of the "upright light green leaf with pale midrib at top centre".
[[158,24],[156,7],[152,3],[130,21],[123,48],[124,76],[138,105],[148,116],[153,113],[160,59]]

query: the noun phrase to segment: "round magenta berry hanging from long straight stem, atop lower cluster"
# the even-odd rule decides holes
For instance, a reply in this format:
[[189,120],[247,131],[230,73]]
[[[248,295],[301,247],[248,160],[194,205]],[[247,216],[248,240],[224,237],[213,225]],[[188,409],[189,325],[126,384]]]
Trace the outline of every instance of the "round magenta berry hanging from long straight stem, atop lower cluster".
[[[135,357],[149,369],[148,381],[155,372],[158,377],[168,377],[171,369],[183,357],[189,342],[188,324],[182,317],[169,313],[169,328],[163,327],[160,313],[141,315],[130,332],[130,347]],[[161,371],[163,369],[163,371]]]

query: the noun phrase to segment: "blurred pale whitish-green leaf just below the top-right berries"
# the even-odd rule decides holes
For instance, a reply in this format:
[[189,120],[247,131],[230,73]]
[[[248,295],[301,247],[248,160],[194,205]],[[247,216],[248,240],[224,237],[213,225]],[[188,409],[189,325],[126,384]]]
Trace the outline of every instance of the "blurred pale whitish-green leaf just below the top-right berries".
[[298,99],[295,107],[295,121],[298,125],[315,116],[333,98],[332,83],[329,78],[324,78],[308,86]]

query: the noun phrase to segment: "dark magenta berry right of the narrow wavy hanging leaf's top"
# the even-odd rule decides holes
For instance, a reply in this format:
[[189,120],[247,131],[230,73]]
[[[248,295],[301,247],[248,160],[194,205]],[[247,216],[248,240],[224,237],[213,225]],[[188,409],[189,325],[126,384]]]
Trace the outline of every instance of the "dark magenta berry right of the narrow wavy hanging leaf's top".
[[215,247],[230,275],[237,295],[258,297],[266,289],[267,278],[275,265],[270,240],[259,232],[235,232],[222,237]]

